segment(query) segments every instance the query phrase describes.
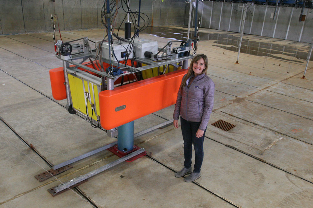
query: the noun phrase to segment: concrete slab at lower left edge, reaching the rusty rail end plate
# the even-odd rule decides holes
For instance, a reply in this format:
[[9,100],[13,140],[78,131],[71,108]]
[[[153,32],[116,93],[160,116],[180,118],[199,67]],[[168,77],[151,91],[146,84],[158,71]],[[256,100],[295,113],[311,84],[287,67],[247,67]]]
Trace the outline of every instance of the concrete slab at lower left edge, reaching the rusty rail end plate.
[[34,177],[36,172],[44,172],[43,168],[49,170],[50,167],[1,121],[0,129],[1,205],[3,201],[39,186]]

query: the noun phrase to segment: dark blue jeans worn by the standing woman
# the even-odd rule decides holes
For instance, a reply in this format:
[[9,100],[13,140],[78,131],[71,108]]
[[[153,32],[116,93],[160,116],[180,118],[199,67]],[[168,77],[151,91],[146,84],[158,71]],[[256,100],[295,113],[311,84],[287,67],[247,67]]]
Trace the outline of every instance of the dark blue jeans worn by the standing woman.
[[196,158],[193,172],[199,173],[201,170],[201,165],[203,161],[203,141],[205,131],[203,136],[198,138],[196,133],[199,129],[201,122],[191,122],[180,117],[180,124],[182,128],[182,138],[184,139],[184,155],[185,155],[185,168],[191,167],[191,157],[192,157],[192,143],[195,150]]

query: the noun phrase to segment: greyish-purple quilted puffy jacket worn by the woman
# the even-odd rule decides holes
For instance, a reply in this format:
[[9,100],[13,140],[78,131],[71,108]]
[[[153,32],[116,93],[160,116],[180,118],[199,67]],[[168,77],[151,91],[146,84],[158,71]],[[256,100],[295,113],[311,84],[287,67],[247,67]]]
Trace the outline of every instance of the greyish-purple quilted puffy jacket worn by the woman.
[[213,80],[201,74],[193,80],[189,89],[187,85],[182,92],[179,89],[173,119],[178,120],[180,114],[187,121],[201,122],[199,129],[204,131],[213,109],[214,87]]

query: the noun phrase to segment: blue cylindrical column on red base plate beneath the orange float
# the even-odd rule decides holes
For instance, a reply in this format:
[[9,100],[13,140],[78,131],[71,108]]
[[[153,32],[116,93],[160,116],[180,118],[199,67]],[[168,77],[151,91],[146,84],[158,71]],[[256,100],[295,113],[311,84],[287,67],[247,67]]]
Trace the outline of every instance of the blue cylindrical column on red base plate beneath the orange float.
[[134,148],[134,121],[117,127],[117,148],[128,152]]

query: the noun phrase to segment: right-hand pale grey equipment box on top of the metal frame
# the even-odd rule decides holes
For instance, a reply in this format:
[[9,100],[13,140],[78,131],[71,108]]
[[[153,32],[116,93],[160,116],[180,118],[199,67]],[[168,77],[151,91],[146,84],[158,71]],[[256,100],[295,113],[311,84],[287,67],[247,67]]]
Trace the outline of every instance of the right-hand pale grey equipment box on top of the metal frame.
[[158,52],[157,41],[136,37],[134,40],[134,52],[137,58],[145,58],[145,52],[149,51],[153,54]]

